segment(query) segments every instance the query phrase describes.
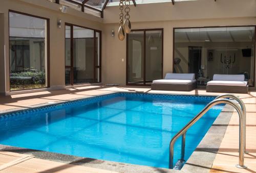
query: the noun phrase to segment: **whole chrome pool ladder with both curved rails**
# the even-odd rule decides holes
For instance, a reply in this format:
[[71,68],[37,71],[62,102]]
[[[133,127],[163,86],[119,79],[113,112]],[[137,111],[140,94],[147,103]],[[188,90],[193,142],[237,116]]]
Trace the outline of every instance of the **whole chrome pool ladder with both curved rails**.
[[[238,104],[232,102],[227,98],[232,98],[236,100]],[[218,105],[218,104],[228,104],[232,106],[239,114],[239,164],[236,165],[238,168],[247,168],[244,165],[244,153],[246,152],[246,139],[245,139],[245,131],[246,131],[246,108],[243,101],[233,94],[223,94],[219,95],[215,98],[215,100],[211,101],[206,107],[199,112],[193,119],[191,119],[186,126],[184,126],[170,141],[169,144],[169,168],[170,169],[181,169],[182,165],[185,163],[184,156],[185,156],[185,139],[186,139],[186,132],[187,130],[194,125],[211,107]],[[181,139],[181,159],[178,160],[175,167],[173,167],[173,159],[174,159],[174,144],[176,140],[182,135]]]

